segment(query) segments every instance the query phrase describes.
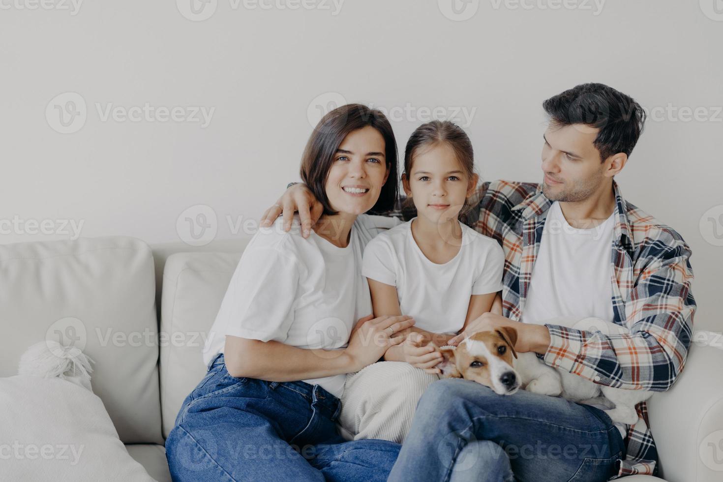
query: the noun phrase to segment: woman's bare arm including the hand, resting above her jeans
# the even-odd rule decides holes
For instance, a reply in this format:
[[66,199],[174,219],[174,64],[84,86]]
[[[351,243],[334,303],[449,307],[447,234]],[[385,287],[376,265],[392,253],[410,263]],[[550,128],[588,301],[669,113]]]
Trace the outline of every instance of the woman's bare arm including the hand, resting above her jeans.
[[[322,378],[359,371],[377,361],[390,346],[404,340],[400,334],[414,324],[411,317],[364,317],[351,332],[343,350],[309,350],[277,341],[263,342],[226,335],[224,358],[228,374],[270,382]],[[391,333],[389,328],[391,327]]]

